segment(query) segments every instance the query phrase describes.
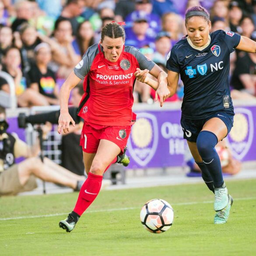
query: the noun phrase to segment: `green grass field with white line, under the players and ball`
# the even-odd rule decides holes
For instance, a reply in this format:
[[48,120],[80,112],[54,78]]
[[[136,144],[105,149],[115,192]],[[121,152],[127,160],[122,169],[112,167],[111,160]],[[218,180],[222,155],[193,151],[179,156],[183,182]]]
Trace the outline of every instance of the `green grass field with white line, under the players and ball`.
[[[213,224],[214,195],[203,183],[102,191],[71,233],[58,223],[77,193],[2,197],[0,255],[256,255],[256,179],[226,184],[234,204],[221,225]],[[153,198],[174,209],[174,224],[162,234],[140,224],[140,208]]]

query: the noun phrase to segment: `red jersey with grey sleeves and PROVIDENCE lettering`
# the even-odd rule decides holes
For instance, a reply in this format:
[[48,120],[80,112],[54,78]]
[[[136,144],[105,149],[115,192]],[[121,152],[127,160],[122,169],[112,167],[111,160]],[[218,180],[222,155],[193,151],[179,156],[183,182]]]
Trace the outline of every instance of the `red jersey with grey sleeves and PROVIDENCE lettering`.
[[136,68],[151,70],[155,63],[132,46],[124,46],[116,62],[108,61],[102,47],[87,50],[74,68],[84,79],[84,95],[78,116],[88,123],[104,126],[128,126],[132,122],[133,86]]

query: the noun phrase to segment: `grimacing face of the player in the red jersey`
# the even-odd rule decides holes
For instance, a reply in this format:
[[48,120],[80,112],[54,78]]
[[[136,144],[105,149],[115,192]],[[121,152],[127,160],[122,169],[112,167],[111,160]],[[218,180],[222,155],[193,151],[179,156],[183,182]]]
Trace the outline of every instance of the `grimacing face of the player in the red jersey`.
[[110,62],[116,62],[123,51],[124,40],[123,37],[110,38],[105,36],[103,41],[101,41],[101,45],[105,58]]

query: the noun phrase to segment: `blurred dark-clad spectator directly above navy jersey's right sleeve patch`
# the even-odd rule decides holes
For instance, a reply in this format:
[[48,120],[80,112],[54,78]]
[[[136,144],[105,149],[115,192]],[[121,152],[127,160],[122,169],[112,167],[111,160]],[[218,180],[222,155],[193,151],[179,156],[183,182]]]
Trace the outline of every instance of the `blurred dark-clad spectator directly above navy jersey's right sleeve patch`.
[[242,19],[242,9],[239,7],[237,1],[230,2],[228,16],[230,30],[238,33],[241,32],[239,24]]

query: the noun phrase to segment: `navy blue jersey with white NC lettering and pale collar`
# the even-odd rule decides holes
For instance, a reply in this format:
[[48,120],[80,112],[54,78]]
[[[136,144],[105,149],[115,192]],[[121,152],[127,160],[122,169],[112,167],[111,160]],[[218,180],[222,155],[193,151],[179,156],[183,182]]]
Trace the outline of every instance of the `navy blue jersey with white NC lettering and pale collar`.
[[166,67],[179,73],[184,84],[182,116],[203,119],[217,111],[234,113],[229,58],[240,38],[234,32],[217,30],[210,34],[209,46],[201,51],[190,46],[186,38],[173,46]]

